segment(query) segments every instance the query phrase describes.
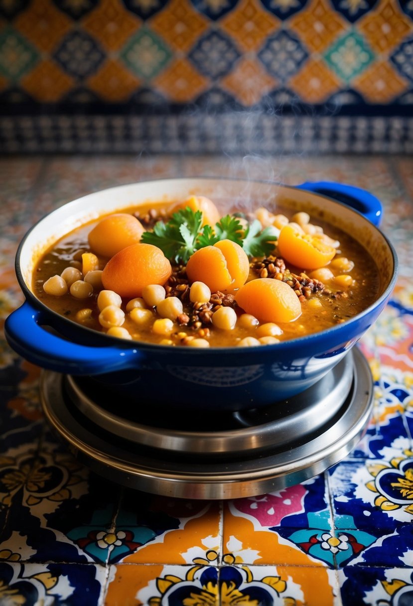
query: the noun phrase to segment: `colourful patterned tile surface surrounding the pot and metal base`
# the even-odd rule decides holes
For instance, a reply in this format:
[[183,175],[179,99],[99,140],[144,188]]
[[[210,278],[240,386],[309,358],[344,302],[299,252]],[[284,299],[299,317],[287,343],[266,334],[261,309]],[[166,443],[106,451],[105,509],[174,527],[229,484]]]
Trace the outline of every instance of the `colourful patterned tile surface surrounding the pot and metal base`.
[[50,434],[39,369],[1,338],[0,604],[413,604],[413,161],[406,157],[15,158],[0,161],[0,319],[22,301],[13,259],[45,213],[148,178],[232,175],[367,188],[400,277],[363,338],[374,418],[345,461],[285,490],[233,501],[120,488]]

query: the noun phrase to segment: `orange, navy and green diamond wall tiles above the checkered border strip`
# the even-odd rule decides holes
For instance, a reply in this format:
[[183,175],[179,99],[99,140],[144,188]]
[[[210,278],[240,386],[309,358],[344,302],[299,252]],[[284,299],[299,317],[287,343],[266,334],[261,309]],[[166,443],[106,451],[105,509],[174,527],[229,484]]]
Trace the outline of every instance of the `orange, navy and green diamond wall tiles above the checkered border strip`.
[[8,116],[411,115],[408,0],[0,0],[0,19]]

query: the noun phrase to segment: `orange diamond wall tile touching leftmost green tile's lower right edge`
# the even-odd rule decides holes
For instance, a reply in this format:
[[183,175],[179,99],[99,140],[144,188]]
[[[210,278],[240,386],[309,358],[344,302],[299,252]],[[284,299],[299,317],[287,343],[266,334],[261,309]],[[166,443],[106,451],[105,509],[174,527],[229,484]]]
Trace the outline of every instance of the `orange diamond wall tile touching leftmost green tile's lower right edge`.
[[70,78],[53,61],[46,59],[21,79],[22,87],[38,101],[59,101],[73,86]]

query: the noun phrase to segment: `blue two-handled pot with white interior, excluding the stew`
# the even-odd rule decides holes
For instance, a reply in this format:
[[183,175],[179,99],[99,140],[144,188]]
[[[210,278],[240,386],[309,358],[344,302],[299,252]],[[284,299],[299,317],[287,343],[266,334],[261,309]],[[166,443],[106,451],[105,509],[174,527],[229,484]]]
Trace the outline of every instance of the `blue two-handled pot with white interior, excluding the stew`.
[[[132,204],[205,195],[265,206],[277,202],[312,220],[325,219],[357,238],[380,267],[377,301],[343,324],[292,341],[262,347],[185,348],[111,338],[58,315],[31,290],[33,268],[53,242],[73,228]],[[353,208],[351,208],[353,207]],[[357,208],[357,210],[354,210]],[[88,375],[136,405],[240,410],[289,396],[319,381],[360,339],[383,310],[397,273],[395,251],[378,230],[382,208],[366,191],[334,183],[297,188],[237,179],[165,179],[111,188],[65,204],[27,233],[16,256],[16,274],[26,301],[5,322],[8,342],[33,364],[71,375]],[[52,327],[53,332],[45,327]]]

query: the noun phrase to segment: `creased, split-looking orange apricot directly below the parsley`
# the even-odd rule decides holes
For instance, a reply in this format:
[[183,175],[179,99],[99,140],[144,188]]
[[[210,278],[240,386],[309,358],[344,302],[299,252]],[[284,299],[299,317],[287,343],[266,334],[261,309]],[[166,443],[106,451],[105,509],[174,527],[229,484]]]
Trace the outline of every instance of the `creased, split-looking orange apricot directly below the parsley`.
[[239,244],[231,240],[199,248],[187,263],[190,281],[203,282],[213,293],[239,288],[245,284],[248,273],[248,256]]

